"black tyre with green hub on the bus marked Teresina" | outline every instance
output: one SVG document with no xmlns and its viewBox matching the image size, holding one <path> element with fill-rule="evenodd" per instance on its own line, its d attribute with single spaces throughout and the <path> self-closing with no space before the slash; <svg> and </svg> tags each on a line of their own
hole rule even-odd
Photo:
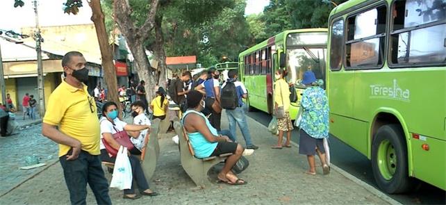
<svg viewBox="0 0 446 205">
<path fill-rule="evenodd" d="M 372 170 L 381 190 L 389 194 L 408 191 L 413 179 L 408 177 L 407 146 L 397 124 L 381 126 L 372 144 Z"/>
</svg>

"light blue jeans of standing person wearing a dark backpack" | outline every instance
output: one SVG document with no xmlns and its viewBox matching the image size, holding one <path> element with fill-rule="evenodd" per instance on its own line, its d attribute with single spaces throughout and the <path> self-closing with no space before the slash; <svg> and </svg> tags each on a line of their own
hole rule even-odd
<svg viewBox="0 0 446 205">
<path fill-rule="evenodd" d="M 245 115 L 245 106 L 238 107 L 233 110 L 226 109 L 226 115 L 228 115 L 229 131 L 233 136 L 236 136 L 236 123 L 242 131 L 243 138 L 245 138 L 245 144 L 247 147 L 252 145 L 251 133 L 249 133 L 248 122 Z"/>
</svg>

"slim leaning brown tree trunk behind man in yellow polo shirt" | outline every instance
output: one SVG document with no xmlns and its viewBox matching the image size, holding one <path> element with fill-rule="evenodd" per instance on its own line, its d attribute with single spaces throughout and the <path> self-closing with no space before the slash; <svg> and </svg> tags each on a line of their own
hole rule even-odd
<svg viewBox="0 0 446 205">
<path fill-rule="evenodd" d="M 117 94 L 116 69 L 113 63 L 113 54 L 110 44 L 108 44 L 108 35 L 106 32 L 106 24 L 104 23 L 104 13 L 101 9 L 100 0 L 92 0 L 89 2 L 92 9 L 91 20 L 96 28 L 97 40 L 99 41 L 99 49 L 101 49 L 102 69 L 104 70 L 104 80 L 108 88 L 107 100 L 114 101 L 119 104 Z M 120 106 L 118 106 L 120 108 Z M 121 113 L 121 112 L 119 112 Z"/>
</svg>

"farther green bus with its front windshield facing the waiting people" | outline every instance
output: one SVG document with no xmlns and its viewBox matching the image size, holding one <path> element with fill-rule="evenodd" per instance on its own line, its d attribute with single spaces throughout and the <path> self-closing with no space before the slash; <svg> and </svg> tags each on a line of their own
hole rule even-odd
<svg viewBox="0 0 446 205">
<path fill-rule="evenodd" d="M 249 93 L 248 109 L 256 108 L 272 114 L 274 109 L 273 84 L 276 69 L 287 69 L 288 83 L 302 93 L 299 80 L 308 69 L 317 79 L 325 79 L 327 28 L 308 28 L 283 31 L 256 44 L 238 56 L 239 79 Z M 299 100 L 292 101 L 290 117 L 295 120 Z"/>
</svg>

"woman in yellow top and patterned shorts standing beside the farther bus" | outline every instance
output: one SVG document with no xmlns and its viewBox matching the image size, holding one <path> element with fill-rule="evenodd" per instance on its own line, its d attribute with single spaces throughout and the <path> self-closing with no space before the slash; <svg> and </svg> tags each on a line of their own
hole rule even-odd
<svg viewBox="0 0 446 205">
<path fill-rule="evenodd" d="M 291 147 L 290 138 L 291 131 L 293 128 L 290 113 L 288 109 L 290 108 L 290 89 L 288 88 L 288 83 L 285 81 L 285 77 L 288 72 L 284 69 L 277 69 L 274 72 L 274 115 L 277 118 L 277 130 L 279 131 L 279 138 L 277 140 L 277 145 L 272 146 L 272 149 L 282 149 L 284 147 Z M 283 133 L 286 133 L 285 145 L 282 145 Z"/>
</svg>

